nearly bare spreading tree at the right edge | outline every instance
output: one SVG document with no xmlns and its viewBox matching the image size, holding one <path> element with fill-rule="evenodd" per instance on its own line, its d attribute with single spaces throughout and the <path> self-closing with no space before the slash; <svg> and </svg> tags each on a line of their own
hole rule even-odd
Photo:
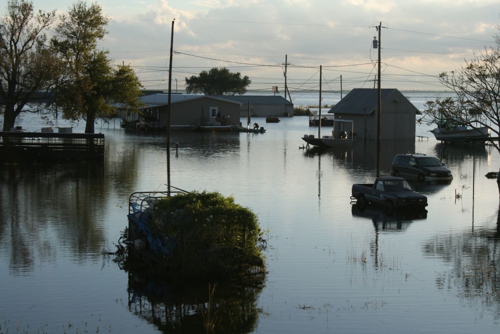
<svg viewBox="0 0 500 334">
<path fill-rule="evenodd" d="M 499 29 L 497 27 L 497 29 Z M 439 81 L 454 91 L 457 98 L 427 101 L 424 119 L 454 119 L 471 128 L 490 126 L 498 137 L 500 125 L 500 36 L 496 45 L 479 56 L 465 60 L 465 65 L 449 74 L 439 74 Z M 493 146 L 500 152 L 498 142 Z M 500 176 L 500 173 L 498 173 Z M 497 178 L 498 180 L 498 178 Z"/>
</svg>

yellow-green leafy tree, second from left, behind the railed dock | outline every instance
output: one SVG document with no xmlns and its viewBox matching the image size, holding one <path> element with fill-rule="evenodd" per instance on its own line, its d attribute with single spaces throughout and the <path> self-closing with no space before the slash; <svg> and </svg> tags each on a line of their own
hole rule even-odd
<svg viewBox="0 0 500 334">
<path fill-rule="evenodd" d="M 109 19 L 97 4 L 78 1 L 59 17 L 51 46 L 64 62 L 51 107 L 70 120 L 85 119 L 85 133 L 94 132 L 95 118 L 112 115 L 117 104 L 138 111 L 140 84 L 129 66 L 112 65 L 108 51 L 97 50 Z"/>
</svg>

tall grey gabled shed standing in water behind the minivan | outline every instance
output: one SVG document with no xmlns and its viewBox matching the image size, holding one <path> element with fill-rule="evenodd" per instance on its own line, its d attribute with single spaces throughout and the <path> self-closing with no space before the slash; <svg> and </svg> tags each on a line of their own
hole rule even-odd
<svg viewBox="0 0 500 334">
<path fill-rule="evenodd" d="M 356 88 L 328 113 L 354 122 L 356 139 L 376 139 L 377 89 Z M 380 139 L 415 140 L 415 115 L 420 111 L 397 89 L 381 90 Z"/>
</svg>

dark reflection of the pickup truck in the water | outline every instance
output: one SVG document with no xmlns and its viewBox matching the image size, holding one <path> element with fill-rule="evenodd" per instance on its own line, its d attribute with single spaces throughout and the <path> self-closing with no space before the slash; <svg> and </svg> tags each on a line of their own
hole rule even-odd
<svg viewBox="0 0 500 334">
<path fill-rule="evenodd" d="M 414 220 L 427 219 L 427 210 L 394 210 L 388 213 L 383 208 L 374 205 L 367 205 L 363 209 L 353 204 L 351 213 L 354 217 L 370 219 L 375 231 L 386 232 L 404 231 Z"/>
</svg>

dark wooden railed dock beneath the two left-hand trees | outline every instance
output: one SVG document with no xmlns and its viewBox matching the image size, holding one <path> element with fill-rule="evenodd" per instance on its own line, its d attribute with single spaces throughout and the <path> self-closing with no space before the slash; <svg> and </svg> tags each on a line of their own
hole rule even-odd
<svg viewBox="0 0 500 334">
<path fill-rule="evenodd" d="M 104 159 L 101 133 L 0 132 L 0 160 Z"/>
</svg>

